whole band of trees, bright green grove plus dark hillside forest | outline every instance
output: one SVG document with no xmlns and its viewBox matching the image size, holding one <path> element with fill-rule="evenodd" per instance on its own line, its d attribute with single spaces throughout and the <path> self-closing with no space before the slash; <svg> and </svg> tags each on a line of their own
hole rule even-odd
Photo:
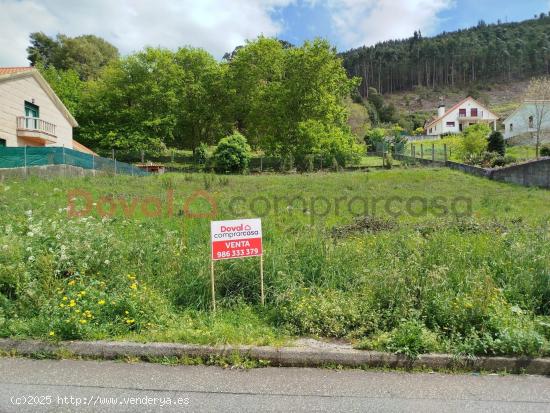
<svg viewBox="0 0 550 413">
<path fill-rule="evenodd" d="M 44 33 L 30 35 L 27 52 L 78 120 L 76 139 L 95 150 L 195 151 L 239 132 L 269 156 L 345 165 L 369 130 L 422 133 L 433 111 L 411 108 L 403 93 L 483 101 L 490 85 L 548 74 L 550 16 L 431 38 L 417 31 L 341 54 L 321 39 L 259 37 L 221 61 L 191 47 L 120 56 L 93 35 Z"/>
</svg>

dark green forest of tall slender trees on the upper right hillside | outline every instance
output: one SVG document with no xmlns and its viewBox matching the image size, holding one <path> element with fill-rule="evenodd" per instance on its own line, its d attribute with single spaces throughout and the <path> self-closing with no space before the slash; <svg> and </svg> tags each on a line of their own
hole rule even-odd
<svg viewBox="0 0 550 413">
<path fill-rule="evenodd" d="M 360 93 L 464 87 L 550 73 L 550 13 L 519 23 L 486 24 L 424 38 L 391 40 L 342 54 L 348 73 L 363 79 Z"/>
</svg>

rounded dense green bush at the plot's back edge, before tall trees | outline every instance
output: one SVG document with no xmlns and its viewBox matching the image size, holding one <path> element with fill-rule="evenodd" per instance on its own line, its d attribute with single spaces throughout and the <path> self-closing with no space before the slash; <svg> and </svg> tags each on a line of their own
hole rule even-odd
<svg viewBox="0 0 550 413">
<path fill-rule="evenodd" d="M 243 173 L 248 169 L 251 149 L 246 138 L 238 132 L 223 138 L 214 151 L 214 165 L 220 173 Z"/>
</svg>

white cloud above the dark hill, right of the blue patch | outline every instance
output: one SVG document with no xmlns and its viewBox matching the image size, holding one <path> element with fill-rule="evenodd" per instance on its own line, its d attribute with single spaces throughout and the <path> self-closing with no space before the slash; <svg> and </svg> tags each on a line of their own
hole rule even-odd
<svg viewBox="0 0 550 413">
<path fill-rule="evenodd" d="M 432 33 L 437 14 L 453 0 L 329 0 L 334 30 L 344 47 L 359 47 L 410 37 L 415 30 Z"/>
</svg>

